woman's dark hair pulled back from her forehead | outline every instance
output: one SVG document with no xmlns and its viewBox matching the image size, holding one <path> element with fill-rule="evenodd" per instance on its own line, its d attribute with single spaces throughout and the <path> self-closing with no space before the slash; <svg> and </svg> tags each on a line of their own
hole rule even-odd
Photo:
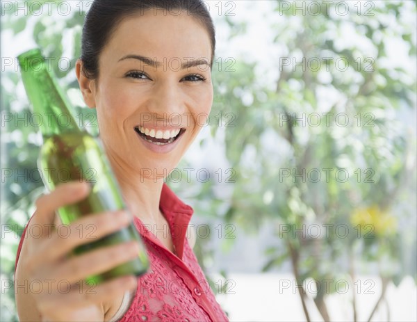
<svg viewBox="0 0 417 322">
<path fill-rule="evenodd" d="M 122 19 L 145 10 L 162 9 L 164 15 L 186 11 L 208 31 L 211 41 L 211 65 L 215 51 L 215 29 L 206 5 L 201 0 L 95 0 L 85 16 L 81 38 L 83 73 L 89 79 L 99 77 L 99 55 Z"/>
</svg>

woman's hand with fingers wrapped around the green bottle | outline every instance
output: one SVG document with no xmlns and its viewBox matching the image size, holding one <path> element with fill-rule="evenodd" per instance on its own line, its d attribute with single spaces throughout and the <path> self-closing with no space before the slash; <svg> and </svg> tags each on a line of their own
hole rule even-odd
<svg viewBox="0 0 417 322">
<path fill-rule="evenodd" d="M 83 282 L 89 275 L 103 273 L 137 257 L 136 242 L 68 257 L 76 246 L 92 241 L 91 225 L 96 228 L 95 238 L 100 239 L 129 225 L 129 214 L 113 211 L 85 216 L 67 227 L 65 234 L 70 233 L 65 238 L 51 229 L 56 209 L 83 200 L 88 191 L 88 184 L 70 182 L 36 200 L 36 211 L 26 230 L 15 275 L 20 321 L 104 321 L 103 303 L 136 288 L 133 275 L 99 285 Z"/>
</svg>

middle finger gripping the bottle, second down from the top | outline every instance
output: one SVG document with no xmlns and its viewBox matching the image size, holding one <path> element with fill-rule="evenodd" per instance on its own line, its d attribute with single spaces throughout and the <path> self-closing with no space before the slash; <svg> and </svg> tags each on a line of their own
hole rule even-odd
<svg viewBox="0 0 417 322">
<path fill-rule="evenodd" d="M 42 256 L 34 256 L 30 265 L 38 266 L 44 262 L 51 263 L 65 257 L 79 245 L 98 241 L 104 236 L 117 232 L 131 223 L 131 215 L 126 211 L 107 211 L 102 214 L 87 215 L 65 227 L 65 232 L 58 230 L 42 245 L 37 252 Z M 69 234 L 67 234 L 69 232 Z"/>
</svg>

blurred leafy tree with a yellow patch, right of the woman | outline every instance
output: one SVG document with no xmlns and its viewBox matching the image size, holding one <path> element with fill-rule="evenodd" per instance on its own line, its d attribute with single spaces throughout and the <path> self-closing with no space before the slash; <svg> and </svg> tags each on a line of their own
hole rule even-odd
<svg viewBox="0 0 417 322">
<path fill-rule="evenodd" d="M 379 1 L 358 15 L 350 3 L 335 15 L 334 3 L 313 16 L 284 2 L 271 26 L 285 53 L 270 65 L 275 90 L 256 86 L 256 66 L 244 62 L 214 75 L 220 109 L 237 115 L 224 140 L 237 172 L 225 219 L 254 231 L 275 225 L 282 243 L 266 250 L 264 270 L 290 261 L 298 285 L 316 280 L 313 302 L 330 321 L 323 281 L 334 292 L 347 277 L 354 289 L 357 274 L 376 266 L 384 298 L 390 281 L 416 279 L 416 138 L 399 119 L 416 109 L 416 6 Z M 409 49 L 409 65 L 395 62 L 394 44 Z M 300 298 L 309 320 L 305 289 Z M 377 309 L 358 317 L 355 305 L 353 294 L 355 321 Z"/>
</svg>

